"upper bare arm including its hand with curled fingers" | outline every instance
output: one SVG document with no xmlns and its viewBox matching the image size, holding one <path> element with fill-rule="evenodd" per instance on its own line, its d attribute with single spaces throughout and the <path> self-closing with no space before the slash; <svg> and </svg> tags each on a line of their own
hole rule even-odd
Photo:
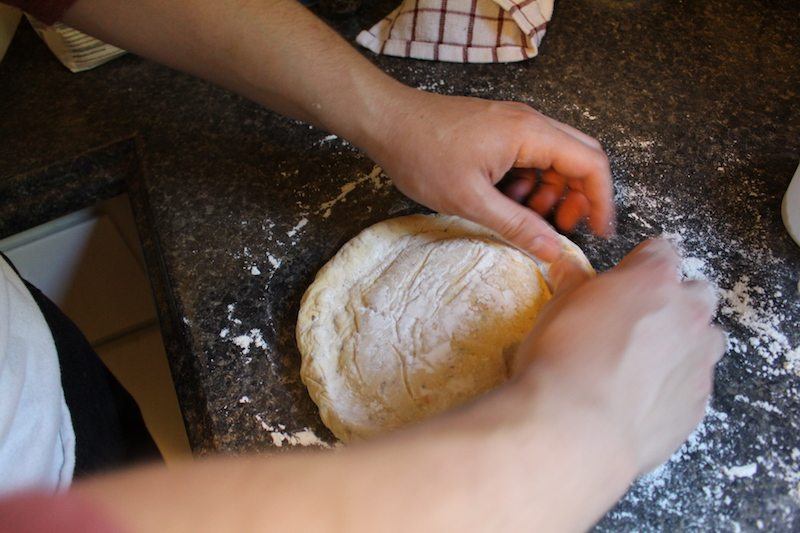
<svg viewBox="0 0 800 533">
<path fill-rule="evenodd" d="M 596 140 L 524 104 L 406 87 L 294 0 L 78 0 L 64 20 L 347 138 L 414 200 L 542 258 L 561 250 L 540 216 L 553 209 L 564 230 L 588 217 L 595 233 L 610 231 L 611 175 Z M 531 208 L 494 188 L 512 168 Z M 532 169 L 546 171 L 535 189 Z"/>
</svg>

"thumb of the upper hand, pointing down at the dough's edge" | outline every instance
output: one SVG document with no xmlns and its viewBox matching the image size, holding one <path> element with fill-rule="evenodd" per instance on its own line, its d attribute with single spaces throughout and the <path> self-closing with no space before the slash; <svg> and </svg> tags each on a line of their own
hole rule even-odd
<svg viewBox="0 0 800 533">
<path fill-rule="evenodd" d="M 531 209 L 481 181 L 485 188 L 468 197 L 461 216 L 496 231 L 517 248 L 542 261 L 553 262 L 561 256 L 561 242 L 550 224 Z"/>
</svg>

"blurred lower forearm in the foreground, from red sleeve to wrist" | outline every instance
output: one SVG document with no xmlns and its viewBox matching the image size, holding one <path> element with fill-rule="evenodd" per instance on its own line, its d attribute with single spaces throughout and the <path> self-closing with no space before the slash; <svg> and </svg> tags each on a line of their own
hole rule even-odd
<svg viewBox="0 0 800 533">
<path fill-rule="evenodd" d="M 630 482 L 563 428 L 503 420 L 512 395 L 338 453 L 212 459 L 76 489 L 133 531 L 578 531 Z"/>
</svg>

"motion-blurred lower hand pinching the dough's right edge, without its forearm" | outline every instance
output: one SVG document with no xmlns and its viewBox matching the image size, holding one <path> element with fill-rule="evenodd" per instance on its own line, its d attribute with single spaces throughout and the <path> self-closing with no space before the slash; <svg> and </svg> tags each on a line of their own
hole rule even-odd
<svg viewBox="0 0 800 533">
<path fill-rule="evenodd" d="M 709 323 L 714 292 L 681 282 L 678 266 L 672 246 L 653 240 L 590 281 L 559 267 L 556 294 L 514 364 L 532 405 L 573 421 L 577 438 L 614 439 L 639 474 L 669 458 L 703 418 L 726 345 Z M 600 431 L 587 436 L 587 426 Z"/>
</svg>

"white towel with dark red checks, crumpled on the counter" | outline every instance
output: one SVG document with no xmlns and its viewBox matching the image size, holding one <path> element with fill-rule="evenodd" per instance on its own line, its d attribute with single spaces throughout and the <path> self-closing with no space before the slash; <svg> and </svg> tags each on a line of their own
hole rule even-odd
<svg viewBox="0 0 800 533">
<path fill-rule="evenodd" d="M 403 0 L 356 41 L 376 54 L 458 63 L 535 56 L 554 0 Z"/>
</svg>

